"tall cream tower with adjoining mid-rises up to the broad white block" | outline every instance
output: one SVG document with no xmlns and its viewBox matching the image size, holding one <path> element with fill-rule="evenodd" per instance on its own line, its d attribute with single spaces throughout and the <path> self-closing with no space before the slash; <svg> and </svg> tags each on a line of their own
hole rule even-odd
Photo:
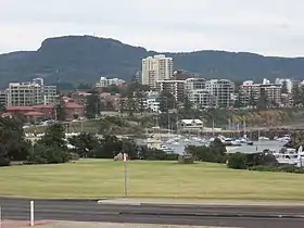
<svg viewBox="0 0 304 228">
<path fill-rule="evenodd" d="M 204 79 L 199 75 L 174 71 L 172 58 L 163 54 L 142 60 L 141 84 L 170 92 L 177 101 L 186 97 L 197 107 L 230 107 L 235 103 L 235 84 L 228 79 Z"/>
</svg>

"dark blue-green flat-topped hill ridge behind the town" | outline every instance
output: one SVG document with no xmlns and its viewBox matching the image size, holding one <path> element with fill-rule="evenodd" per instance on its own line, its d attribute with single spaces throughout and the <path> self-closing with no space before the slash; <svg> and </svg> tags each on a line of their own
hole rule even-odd
<svg viewBox="0 0 304 228">
<path fill-rule="evenodd" d="M 0 55 L 0 86 L 8 81 L 43 77 L 49 83 L 94 83 L 101 75 L 130 79 L 141 67 L 141 59 L 156 52 L 113 39 L 90 36 L 50 38 L 37 51 Z M 165 53 L 175 68 L 200 73 L 206 78 L 233 80 L 264 77 L 303 78 L 303 58 L 271 58 L 253 53 L 198 51 Z"/>
</svg>

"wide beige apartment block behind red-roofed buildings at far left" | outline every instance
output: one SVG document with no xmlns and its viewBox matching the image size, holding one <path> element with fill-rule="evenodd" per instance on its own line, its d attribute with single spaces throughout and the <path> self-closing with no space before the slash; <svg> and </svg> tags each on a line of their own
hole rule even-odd
<svg viewBox="0 0 304 228">
<path fill-rule="evenodd" d="M 55 101 L 56 86 L 45 86 L 43 80 L 35 79 L 30 83 L 11 83 L 7 89 L 8 106 L 54 104 Z"/>
</svg>

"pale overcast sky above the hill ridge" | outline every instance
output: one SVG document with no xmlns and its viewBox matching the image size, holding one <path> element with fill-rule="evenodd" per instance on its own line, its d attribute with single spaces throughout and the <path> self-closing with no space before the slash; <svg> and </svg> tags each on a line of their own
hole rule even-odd
<svg viewBox="0 0 304 228">
<path fill-rule="evenodd" d="M 93 35 L 148 50 L 304 56 L 303 0 L 0 0 L 0 53 Z"/>
</svg>

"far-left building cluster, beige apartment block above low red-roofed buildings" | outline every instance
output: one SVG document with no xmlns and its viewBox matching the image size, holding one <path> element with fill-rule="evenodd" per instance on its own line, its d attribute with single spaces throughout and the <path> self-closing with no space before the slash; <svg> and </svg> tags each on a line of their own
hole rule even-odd
<svg viewBox="0 0 304 228">
<path fill-rule="evenodd" d="M 56 119 L 55 105 L 59 102 L 56 86 L 47 86 L 42 78 L 27 83 L 10 83 L 0 91 L 0 103 L 4 107 L 2 116 L 22 113 L 30 122 L 38 119 Z M 85 106 L 64 97 L 66 118 L 84 116 Z"/>
</svg>

